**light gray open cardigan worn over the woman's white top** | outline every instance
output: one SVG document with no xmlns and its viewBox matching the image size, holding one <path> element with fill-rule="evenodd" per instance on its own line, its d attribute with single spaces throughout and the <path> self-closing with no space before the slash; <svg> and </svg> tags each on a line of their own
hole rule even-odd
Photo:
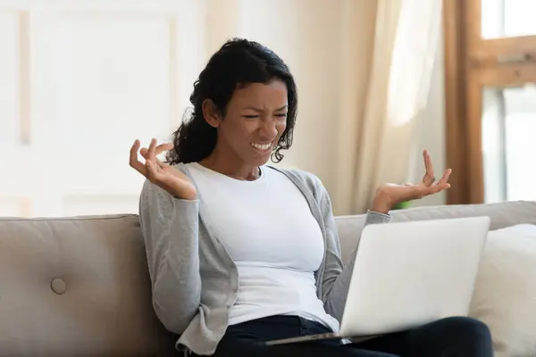
<svg viewBox="0 0 536 357">
<path fill-rule="evenodd" d="M 175 168 L 191 179 L 183 164 Z M 318 221 L 325 253 L 319 270 L 314 272 L 317 295 L 325 310 L 340 321 L 356 252 L 344 267 L 330 197 L 320 179 L 301 170 L 272 169 L 294 182 Z M 213 354 L 228 326 L 239 274 L 218 240 L 203 197 L 181 200 L 147 180 L 140 195 L 139 218 L 156 316 L 165 328 L 180 335 L 178 349 L 186 346 L 200 355 Z M 365 225 L 389 219 L 389 215 L 368 212 Z"/>
</svg>

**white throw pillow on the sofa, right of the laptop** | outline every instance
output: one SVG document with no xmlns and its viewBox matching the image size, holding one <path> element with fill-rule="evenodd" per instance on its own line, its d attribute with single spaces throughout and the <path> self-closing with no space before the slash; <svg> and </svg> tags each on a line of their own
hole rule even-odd
<svg viewBox="0 0 536 357">
<path fill-rule="evenodd" d="M 536 226 L 488 234 L 470 316 L 489 326 L 497 357 L 536 356 Z"/>
</svg>

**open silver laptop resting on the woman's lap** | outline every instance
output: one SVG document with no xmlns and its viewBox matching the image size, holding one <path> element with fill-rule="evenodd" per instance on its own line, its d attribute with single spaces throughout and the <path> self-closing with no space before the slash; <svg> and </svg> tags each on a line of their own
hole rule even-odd
<svg viewBox="0 0 536 357">
<path fill-rule="evenodd" d="M 339 332 L 266 345 L 370 338 L 467 316 L 489 228 L 489 217 L 366 226 Z"/>
</svg>

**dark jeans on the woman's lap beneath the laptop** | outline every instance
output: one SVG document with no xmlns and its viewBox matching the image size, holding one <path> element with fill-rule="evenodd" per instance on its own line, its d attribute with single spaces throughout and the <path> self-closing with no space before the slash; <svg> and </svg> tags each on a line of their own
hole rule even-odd
<svg viewBox="0 0 536 357">
<path fill-rule="evenodd" d="M 491 357 L 490 330 L 469 318 L 448 318 L 420 328 L 356 344 L 339 340 L 266 346 L 264 341 L 330 332 L 322 324 L 295 316 L 273 316 L 230 326 L 214 356 Z"/>
</svg>

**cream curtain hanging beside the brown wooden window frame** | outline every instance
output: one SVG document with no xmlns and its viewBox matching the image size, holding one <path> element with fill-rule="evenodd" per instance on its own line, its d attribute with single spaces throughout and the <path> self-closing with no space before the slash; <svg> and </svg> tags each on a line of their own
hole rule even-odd
<svg viewBox="0 0 536 357">
<path fill-rule="evenodd" d="M 426 120 L 422 113 L 440 45 L 441 1 L 348 3 L 347 27 L 358 20 L 373 41 L 362 39 L 348 49 L 344 64 L 347 95 L 334 193 L 335 211 L 344 214 L 364 212 L 381 182 L 413 179 L 415 141 Z"/>
</svg>

